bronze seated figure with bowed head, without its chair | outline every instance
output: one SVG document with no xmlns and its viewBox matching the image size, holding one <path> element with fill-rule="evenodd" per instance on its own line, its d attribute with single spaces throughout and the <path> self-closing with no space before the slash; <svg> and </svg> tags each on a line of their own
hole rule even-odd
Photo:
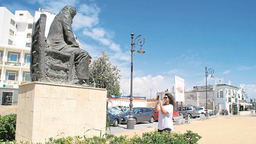
<svg viewBox="0 0 256 144">
<path fill-rule="evenodd" d="M 72 80 L 72 83 L 89 86 L 89 54 L 79 48 L 71 27 L 76 14 L 76 9 L 72 5 L 67 5 L 55 16 L 50 26 L 47 44 L 60 52 L 74 54 L 74 66 L 78 79 Z"/>
</svg>

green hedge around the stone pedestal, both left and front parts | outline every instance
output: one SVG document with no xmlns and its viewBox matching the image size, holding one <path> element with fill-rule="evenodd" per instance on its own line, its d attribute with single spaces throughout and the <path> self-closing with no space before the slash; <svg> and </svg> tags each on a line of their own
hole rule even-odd
<svg viewBox="0 0 256 144">
<path fill-rule="evenodd" d="M 0 144 L 30 144 L 29 142 L 16 142 L 16 114 L 0 116 Z M 60 139 L 49 138 L 45 144 L 197 144 L 201 139 L 197 133 L 187 131 L 184 134 L 175 132 L 163 132 L 160 134 L 157 131 L 146 132 L 139 137 L 135 135 L 132 138 L 127 136 L 117 137 L 115 135 L 104 135 L 100 137 L 63 137 Z M 13 142 L 10 142 L 13 141 Z"/>
</svg>

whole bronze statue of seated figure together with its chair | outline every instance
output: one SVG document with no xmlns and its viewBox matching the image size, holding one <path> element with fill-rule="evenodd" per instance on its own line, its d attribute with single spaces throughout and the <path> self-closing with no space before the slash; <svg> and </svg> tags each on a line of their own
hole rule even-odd
<svg viewBox="0 0 256 144">
<path fill-rule="evenodd" d="M 72 5 L 65 6 L 50 26 L 44 39 L 46 15 L 33 26 L 31 79 L 53 83 L 89 86 L 89 53 L 81 48 L 72 31 L 77 14 Z"/>
</svg>

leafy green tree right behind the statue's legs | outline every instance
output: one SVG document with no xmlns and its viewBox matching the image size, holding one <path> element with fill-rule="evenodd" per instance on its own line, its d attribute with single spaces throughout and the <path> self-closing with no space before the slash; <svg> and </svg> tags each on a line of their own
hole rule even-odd
<svg viewBox="0 0 256 144">
<path fill-rule="evenodd" d="M 89 75 L 94 78 L 95 85 L 98 88 L 108 90 L 107 97 L 110 95 L 120 95 L 120 70 L 117 66 L 111 64 L 110 58 L 105 50 L 99 57 L 90 64 Z M 93 85 L 93 79 L 90 77 L 89 83 Z"/>
</svg>

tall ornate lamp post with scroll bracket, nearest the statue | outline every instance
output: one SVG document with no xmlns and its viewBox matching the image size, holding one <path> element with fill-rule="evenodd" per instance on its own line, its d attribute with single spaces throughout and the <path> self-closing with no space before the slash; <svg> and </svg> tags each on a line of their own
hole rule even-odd
<svg viewBox="0 0 256 144">
<path fill-rule="evenodd" d="M 134 42 L 133 42 L 133 38 L 134 38 L 134 33 L 132 31 L 131 33 L 131 39 L 132 39 L 132 42 L 131 42 L 131 52 L 132 52 L 132 56 L 134 54 L 134 51 L 135 51 L 135 46 L 136 45 L 139 45 L 141 48 L 137 51 L 139 53 L 145 53 L 145 51 L 142 49 L 142 45 L 144 45 L 145 43 L 145 38 L 143 35 L 138 35 Z M 131 94 L 130 94 L 130 112 L 129 112 L 129 118 L 127 120 L 127 129 L 129 130 L 133 130 L 134 129 L 134 119 L 133 119 L 133 116 L 132 116 L 132 99 L 133 99 L 133 96 L 132 96 L 132 72 L 133 72 L 133 57 L 131 59 Z"/>
</svg>

